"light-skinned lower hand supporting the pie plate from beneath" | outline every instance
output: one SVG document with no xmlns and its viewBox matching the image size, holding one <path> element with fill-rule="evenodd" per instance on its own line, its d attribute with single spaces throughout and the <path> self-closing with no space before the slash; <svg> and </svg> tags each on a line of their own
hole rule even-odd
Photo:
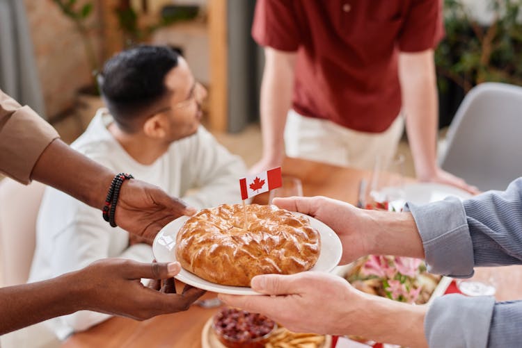
<svg viewBox="0 0 522 348">
<path fill-rule="evenodd" d="M 219 299 L 228 306 L 267 315 L 290 331 L 345 335 L 356 322 L 350 318 L 364 311 L 358 291 L 331 274 L 265 274 L 255 276 L 251 287 L 276 296 L 219 295 Z"/>
</svg>

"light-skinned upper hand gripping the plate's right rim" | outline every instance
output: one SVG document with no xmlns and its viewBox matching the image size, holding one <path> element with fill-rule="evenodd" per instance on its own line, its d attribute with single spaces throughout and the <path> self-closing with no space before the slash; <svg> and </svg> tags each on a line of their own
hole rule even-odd
<svg viewBox="0 0 522 348">
<path fill-rule="evenodd" d="M 365 233 L 370 220 L 365 210 L 327 197 L 274 198 L 272 204 L 310 215 L 330 226 L 342 242 L 342 265 L 370 251 L 370 234 Z"/>
</svg>

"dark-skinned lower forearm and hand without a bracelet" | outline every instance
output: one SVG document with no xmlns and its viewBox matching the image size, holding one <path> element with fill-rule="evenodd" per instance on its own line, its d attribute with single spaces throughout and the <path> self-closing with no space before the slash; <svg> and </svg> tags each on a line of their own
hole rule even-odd
<svg viewBox="0 0 522 348">
<path fill-rule="evenodd" d="M 77 310 L 136 320 L 187 310 L 205 290 L 186 286 L 180 295 L 171 293 L 172 277 L 180 270 L 179 263 L 106 258 L 47 281 L 0 288 L 0 335 Z M 142 278 L 166 279 L 164 289 L 147 288 Z M 27 314 L 27 308 L 31 313 Z"/>
</svg>

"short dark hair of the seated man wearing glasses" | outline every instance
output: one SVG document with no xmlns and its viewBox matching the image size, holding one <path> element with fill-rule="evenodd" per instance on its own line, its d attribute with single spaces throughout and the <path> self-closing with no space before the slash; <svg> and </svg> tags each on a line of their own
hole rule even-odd
<svg viewBox="0 0 522 348">
<path fill-rule="evenodd" d="M 166 46 L 141 45 L 106 61 L 98 78 L 107 108 L 123 131 L 136 131 L 136 119 L 152 113 L 168 90 L 164 79 L 179 54 Z"/>
</svg>

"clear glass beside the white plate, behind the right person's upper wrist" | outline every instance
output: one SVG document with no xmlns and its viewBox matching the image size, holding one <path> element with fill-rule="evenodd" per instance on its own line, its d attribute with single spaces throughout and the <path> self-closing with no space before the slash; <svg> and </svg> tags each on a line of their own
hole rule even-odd
<svg viewBox="0 0 522 348">
<path fill-rule="evenodd" d="M 404 155 L 387 162 L 377 156 L 366 201 L 373 208 L 401 211 L 406 203 L 404 192 Z"/>
</svg>

